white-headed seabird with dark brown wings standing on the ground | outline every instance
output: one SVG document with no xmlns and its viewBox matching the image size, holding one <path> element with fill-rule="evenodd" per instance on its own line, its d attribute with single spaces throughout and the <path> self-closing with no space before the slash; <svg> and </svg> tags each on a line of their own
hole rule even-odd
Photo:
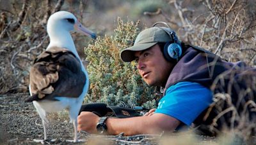
<svg viewBox="0 0 256 145">
<path fill-rule="evenodd" d="M 47 20 L 50 42 L 36 57 L 29 73 L 29 93 L 26 102 L 33 102 L 44 126 L 47 141 L 47 113 L 68 109 L 77 142 L 77 116 L 88 92 L 88 72 L 83 66 L 70 32 L 77 31 L 96 39 L 96 34 L 84 27 L 68 11 L 53 13 Z"/>
</svg>

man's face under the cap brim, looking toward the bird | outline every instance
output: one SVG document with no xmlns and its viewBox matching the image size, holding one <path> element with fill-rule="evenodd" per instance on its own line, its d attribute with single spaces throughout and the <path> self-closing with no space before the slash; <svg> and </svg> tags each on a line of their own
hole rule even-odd
<svg viewBox="0 0 256 145">
<path fill-rule="evenodd" d="M 134 53 L 137 69 L 143 80 L 150 86 L 165 86 L 173 64 L 164 59 L 159 45 Z"/>
</svg>

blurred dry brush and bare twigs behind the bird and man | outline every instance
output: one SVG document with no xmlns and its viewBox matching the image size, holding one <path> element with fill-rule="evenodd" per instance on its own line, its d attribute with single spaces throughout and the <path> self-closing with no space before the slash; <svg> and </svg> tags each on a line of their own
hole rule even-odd
<svg viewBox="0 0 256 145">
<path fill-rule="evenodd" d="M 182 41 L 228 61 L 256 64 L 253 0 L 0 0 L 0 94 L 28 91 L 29 68 L 49 43 L 47 19 L 60 10 L 74 13 L 100 37 L 115 35 L 118 18 L 138 23 L 140 31 L 164 21 Z M 95 41 L 77 33 L 72 36 L 88 65 L 84 48 Z"/>
</svg>

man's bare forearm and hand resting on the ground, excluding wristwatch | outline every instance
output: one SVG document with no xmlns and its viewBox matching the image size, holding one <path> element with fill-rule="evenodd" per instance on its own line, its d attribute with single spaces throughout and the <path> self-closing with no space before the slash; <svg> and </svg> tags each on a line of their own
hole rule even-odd
<svg viewBox="0 0 256 145">
<path fill-rule="evenodd" d="M 96 133 L 99 116 L 91 112 L 82 112 L 77 117 L 78 130 Z M 154 113 L 152 116 L 138 116 L 132 118 L 108 118 L 106 125 L 108 134 L 116 135 L 124 132 L 125 135 L 158 134 L 162 131 L 173 132 L 180 121 L 166 114 Z"/>
</svg>

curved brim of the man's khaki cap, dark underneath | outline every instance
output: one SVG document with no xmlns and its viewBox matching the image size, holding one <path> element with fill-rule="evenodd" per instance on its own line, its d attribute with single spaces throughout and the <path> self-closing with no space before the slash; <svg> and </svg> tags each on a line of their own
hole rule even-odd
<svg viewBox="0 0 256 145">
<path fill-rule="evenodd" d="M 124 62 L 131 62 L 132 60 L 135 59 L 134 52 L 142 51 L 142 50 L 147 50 L 148 48 L 156 45 L 157 42 L 154 43 L 143 43 L 143 44 L 136 44 L 134 46 L 131 46 L 129 48 L 126 48 L 122 50 L 121 52 L 121 59 Z"/>
</svg>

